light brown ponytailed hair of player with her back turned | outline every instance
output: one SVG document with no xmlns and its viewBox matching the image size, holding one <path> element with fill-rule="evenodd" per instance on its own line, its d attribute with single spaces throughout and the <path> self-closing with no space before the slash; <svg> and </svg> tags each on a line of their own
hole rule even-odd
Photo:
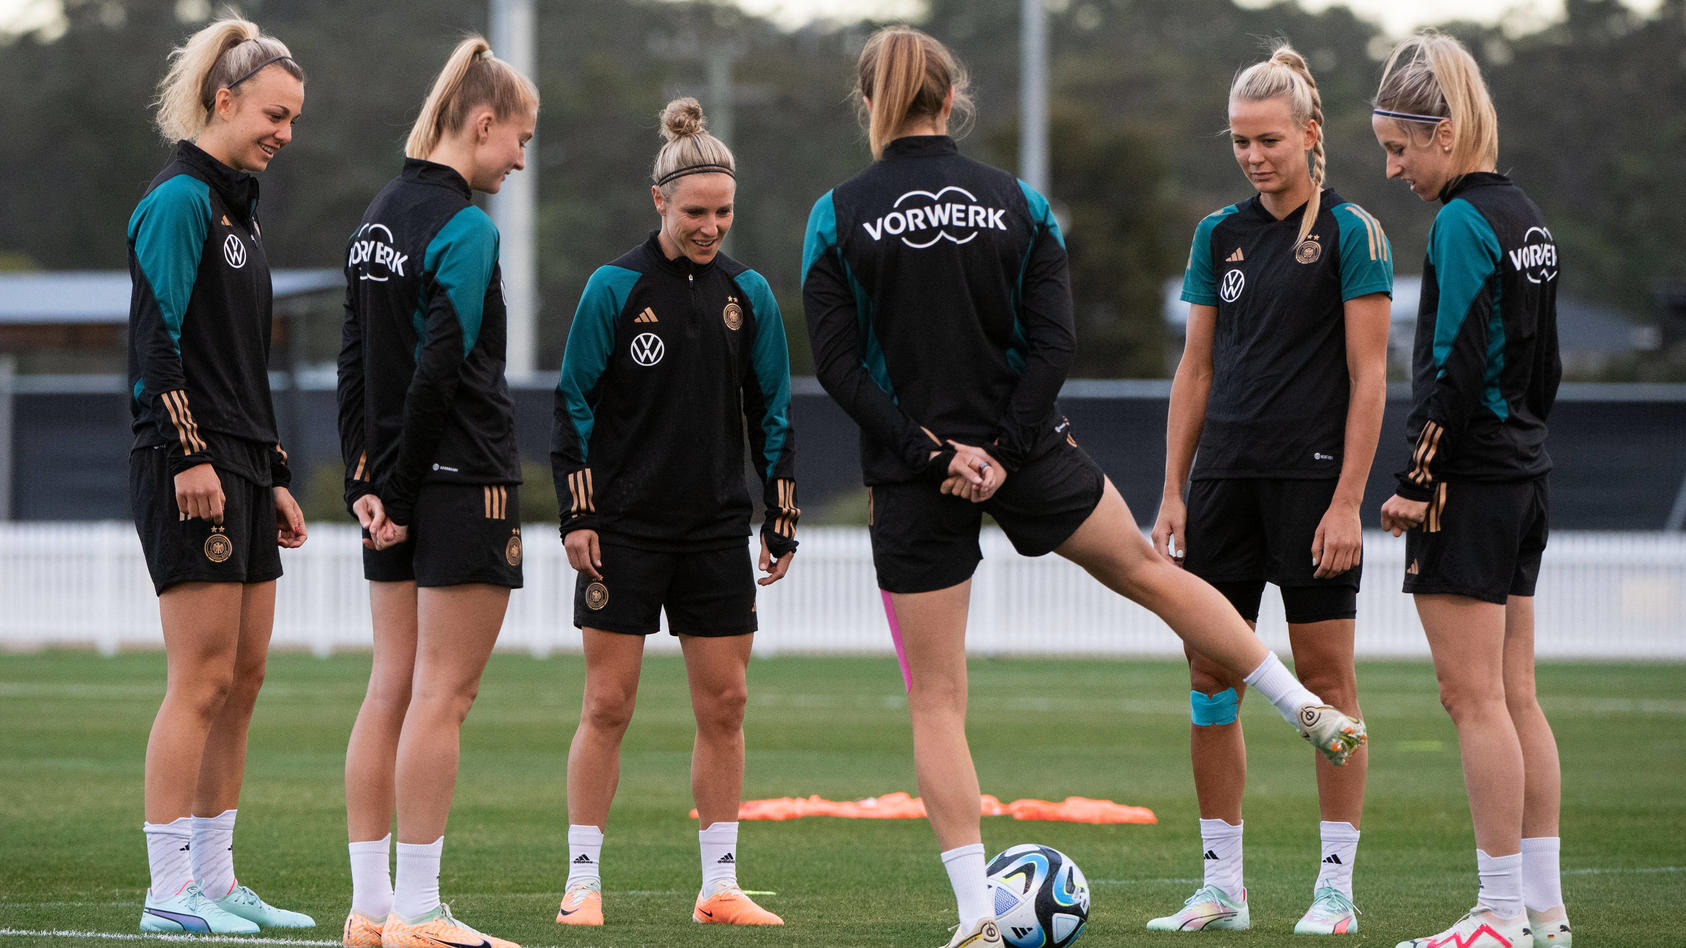
<svg viewBox="0 0 1686 948">
<path fill-rule="evenodd" d="M 883 147 L 909 120 L 941 115 L 949 89 L 954 91 L 951 115 L 956 137 L 971 127 L 971 81 L 964 66 L 948 47 L 914 27 L 883 27 L 872 34 L 855 73 L 856 106 L 873 159 L 883 157 Z M 870 108 L 867 100 L 872 100 Z"/>
</svg>

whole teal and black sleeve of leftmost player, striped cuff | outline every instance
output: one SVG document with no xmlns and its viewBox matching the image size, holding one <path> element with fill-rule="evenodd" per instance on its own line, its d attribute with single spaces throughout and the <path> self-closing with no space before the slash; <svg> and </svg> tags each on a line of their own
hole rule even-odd
<svg viewBox="0 0 1686 948">
<path fill-rule="evenodd" d="M 157 425 L 172 474 L 212 462 L 187 400 L 180 344 L 209 229 L 211 191 L 187 174 L 148 191 L 128 221 L 132 395 Z"/>
</svg>

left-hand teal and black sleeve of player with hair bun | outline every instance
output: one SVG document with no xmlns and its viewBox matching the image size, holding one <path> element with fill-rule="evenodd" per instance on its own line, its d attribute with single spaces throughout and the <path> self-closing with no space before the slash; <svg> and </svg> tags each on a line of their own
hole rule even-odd
<svg viewBox="0 0 1686 948">
<path fill-rule="evenodd" d="M 642 275 L 624 267 L 599 267 L 580 294 L 561 353 L 561 376 L 550 434 L 550 472 L 561 509 L 561 531 L 595 530 L 597 503 L 592 481 L 592 428 L 597 423 L 597 386 L 609 371 L 615 322 Z"/>
</svg>

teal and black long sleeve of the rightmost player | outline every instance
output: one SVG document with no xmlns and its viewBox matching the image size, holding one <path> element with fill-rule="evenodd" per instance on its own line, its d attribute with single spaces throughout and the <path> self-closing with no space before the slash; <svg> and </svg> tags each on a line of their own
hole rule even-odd
<svg viewBox="0 0 1686 948">
<path fill-rule="evenodd" d="M 1398 476 L 1399 496 L 1413 501 L 1433 496 L 1440 471 L 1457 454 L 1475 412 L 1484 403 L 1504 410 L 1492 364 L 1494 334 L 1502 344 L 1504 332 L 1495 324 L 1499 238 L 1492 224 L 1469 201 L 1448 202 L 1430 228 L 1428 261 L 1438 297 L 1435 312 L 1421 312 L 1418 320 L 1433 320 L 1435 380 L 1413 412 L 1411 457 Z"/>
</svg>

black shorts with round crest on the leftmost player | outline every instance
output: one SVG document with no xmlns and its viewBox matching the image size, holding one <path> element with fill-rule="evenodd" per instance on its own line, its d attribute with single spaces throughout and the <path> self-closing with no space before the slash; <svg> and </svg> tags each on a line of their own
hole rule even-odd
<svg viewBox="0 0 1686 948">
<path fill-rule="evenodd" d="M 128 455 L 128 501 L 160 594 L 182 582 L 270 582 L 282 575 L 275 489 L 231 471 L 223 482 L 223 523 L 187 520 L 175 504 L 169 449 L 142 447 Z"/>
</svg>

